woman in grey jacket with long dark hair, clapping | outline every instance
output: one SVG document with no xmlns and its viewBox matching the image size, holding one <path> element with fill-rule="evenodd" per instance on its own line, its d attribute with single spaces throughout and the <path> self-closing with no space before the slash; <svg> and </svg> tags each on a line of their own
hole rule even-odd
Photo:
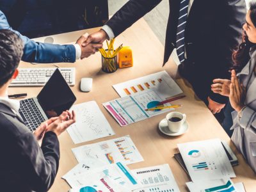
<svg viewBox="0 0 256 192">
<path fill-rule="evenodd" d="M 256 1 L 250 3 L 243 42 L 233 52 L 231 80 L 214 79 L 212 92 L 229 97 L 232 141 L 256 172 Z M 237 74 L 236 74 L 237 73 Z"/>
</svg>

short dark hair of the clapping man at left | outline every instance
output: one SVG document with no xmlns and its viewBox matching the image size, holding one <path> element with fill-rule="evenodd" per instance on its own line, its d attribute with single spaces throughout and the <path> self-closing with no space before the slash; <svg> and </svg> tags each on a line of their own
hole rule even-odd
<svg viewBox="0 0 256 192">
<path fill-rule="evenodd" d="M 0 87 L 7 83 L 19 66 L 23 42 L 14 32 L 0 30 Z"/>
</svg>

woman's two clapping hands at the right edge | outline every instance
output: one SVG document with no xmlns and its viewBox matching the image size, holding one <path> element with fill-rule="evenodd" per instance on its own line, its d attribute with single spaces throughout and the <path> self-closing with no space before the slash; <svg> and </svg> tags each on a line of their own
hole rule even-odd
<svg viewBox="0 0 256 192">
<path fill-rule="evenodd" d="M 231 71 L 231 80 L 214 79 L 211 90 L 214 93 L 229 97 L 230 104 L 237 112 L 244 108 L 246 90 L 243 84 L 239 83 L 235 70 Z"/>
</svg>

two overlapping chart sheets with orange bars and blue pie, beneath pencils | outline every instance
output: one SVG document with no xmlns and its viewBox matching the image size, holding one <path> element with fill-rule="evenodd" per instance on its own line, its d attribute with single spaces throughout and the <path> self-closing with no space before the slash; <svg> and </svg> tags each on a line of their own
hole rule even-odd
<svg viewBox="0 0 256 192">
<path fill-rule="evenodd" d="M 103 106 L 121 126 L 173 110 L 173 108 L 149 111 L 145 109 L 154 108 L 168 97 L 182 93 L 166 71 L 115 84 L 113 88 L 121 98 L 106 102 Z"/>
</svg>

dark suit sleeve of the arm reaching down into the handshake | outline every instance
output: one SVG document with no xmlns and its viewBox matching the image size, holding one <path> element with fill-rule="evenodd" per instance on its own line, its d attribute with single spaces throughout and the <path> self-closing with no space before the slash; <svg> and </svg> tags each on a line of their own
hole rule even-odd
<svg viewBox="0 0 256 192">
<path fill-rule="evenodd" d="M 118 36 L 160 2 L 161 0 L 130 0 L 106 24 Z"/>
</svg>

